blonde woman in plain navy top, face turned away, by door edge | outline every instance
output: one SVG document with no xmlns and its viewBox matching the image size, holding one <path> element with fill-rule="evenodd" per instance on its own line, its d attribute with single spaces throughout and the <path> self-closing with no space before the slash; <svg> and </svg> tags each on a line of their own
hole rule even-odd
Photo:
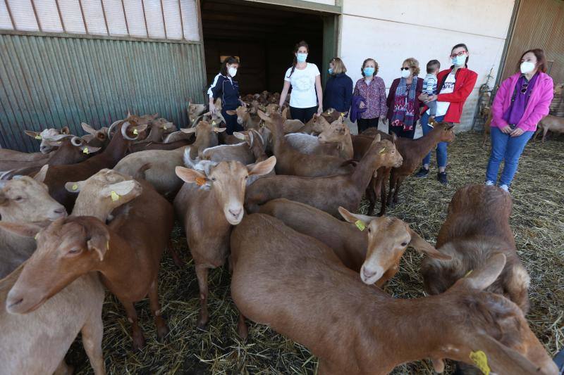
<svg viewBox="0 0 564 375">
<path fill-rule="evenodd" d="M 348 113 L 353 98 L 353 80 L 350 79 L 341 58 L 334 57 L 329 61 L 329 80 L 323 91 L 323 110 L 335 108 L 338 112 Z"/>
</svg>

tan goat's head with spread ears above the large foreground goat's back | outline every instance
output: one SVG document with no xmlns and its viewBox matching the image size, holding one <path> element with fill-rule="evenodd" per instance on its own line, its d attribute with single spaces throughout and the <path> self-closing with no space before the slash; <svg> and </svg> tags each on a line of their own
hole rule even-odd
<svg viewBox="0 0 564 375">
<path fill-rule="evenodd" d="M 411 246 L 429 258 L 450 260 L 422 239 L 407 223 L 397 217 L 372 217 L 357 215 L 340 207 L 345 220 L 355 223 L 358 230 L 368 232 L 368 246 L 364 249 L 365 260 L 360 267 L 360 279 L 364 284 L 383 286 L 400 269 L 400 259 L 407 246 Z M 357 271 L 357 269 L 355 269 Z"/>
</svg>

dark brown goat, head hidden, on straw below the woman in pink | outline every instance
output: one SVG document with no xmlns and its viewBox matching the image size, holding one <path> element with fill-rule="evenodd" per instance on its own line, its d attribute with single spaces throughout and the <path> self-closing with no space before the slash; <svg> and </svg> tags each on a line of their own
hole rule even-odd
<svg viewBox="0 0 564 375">
<path fill-rule="evenodd" d="M 452 260 L 424 259 L 422 274 L 427 292 L 446 291 L 472 269 L 482 267 L 498 253 L 507 263 L 488 291 L 505 295 L 526 314 L 529 310 L 529 274 L 515 250 L 509 226 L 511 197 L 496 186 L 468 185 L 453 196 L 436 248 Z"/>
</svg>

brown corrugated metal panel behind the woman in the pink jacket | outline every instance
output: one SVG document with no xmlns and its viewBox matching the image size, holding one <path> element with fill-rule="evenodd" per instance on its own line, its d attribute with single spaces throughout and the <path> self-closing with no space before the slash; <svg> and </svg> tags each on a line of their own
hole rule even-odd
<svg viewBox="0 0 564 375">
<path fill-rule="evenodd" d="M 541 48 L 553 61 L 550 75 L 564 82 L 564 1 L 521 0 L 502 80 L 515 73 L 517 61 L 528 49 Z"/>
</svg>

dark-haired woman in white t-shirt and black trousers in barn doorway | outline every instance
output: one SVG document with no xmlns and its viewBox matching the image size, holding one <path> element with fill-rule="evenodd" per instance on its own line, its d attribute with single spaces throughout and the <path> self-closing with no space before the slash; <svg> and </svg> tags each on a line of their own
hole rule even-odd
<svg viewBox="0 0 564 375">
<path fill-rule="evenodd" d="M 286 70 L 284 88 L 280 95 L 280 108 L 286 101 L 290 84 L 290 114 L 295 120 L 308 122 L 315 113 L 323 112 L 321 75 L 317 65 L 306 63 L 309 46 L 302 41 L 295 45 L 292 68 Z"/>
</svg>

